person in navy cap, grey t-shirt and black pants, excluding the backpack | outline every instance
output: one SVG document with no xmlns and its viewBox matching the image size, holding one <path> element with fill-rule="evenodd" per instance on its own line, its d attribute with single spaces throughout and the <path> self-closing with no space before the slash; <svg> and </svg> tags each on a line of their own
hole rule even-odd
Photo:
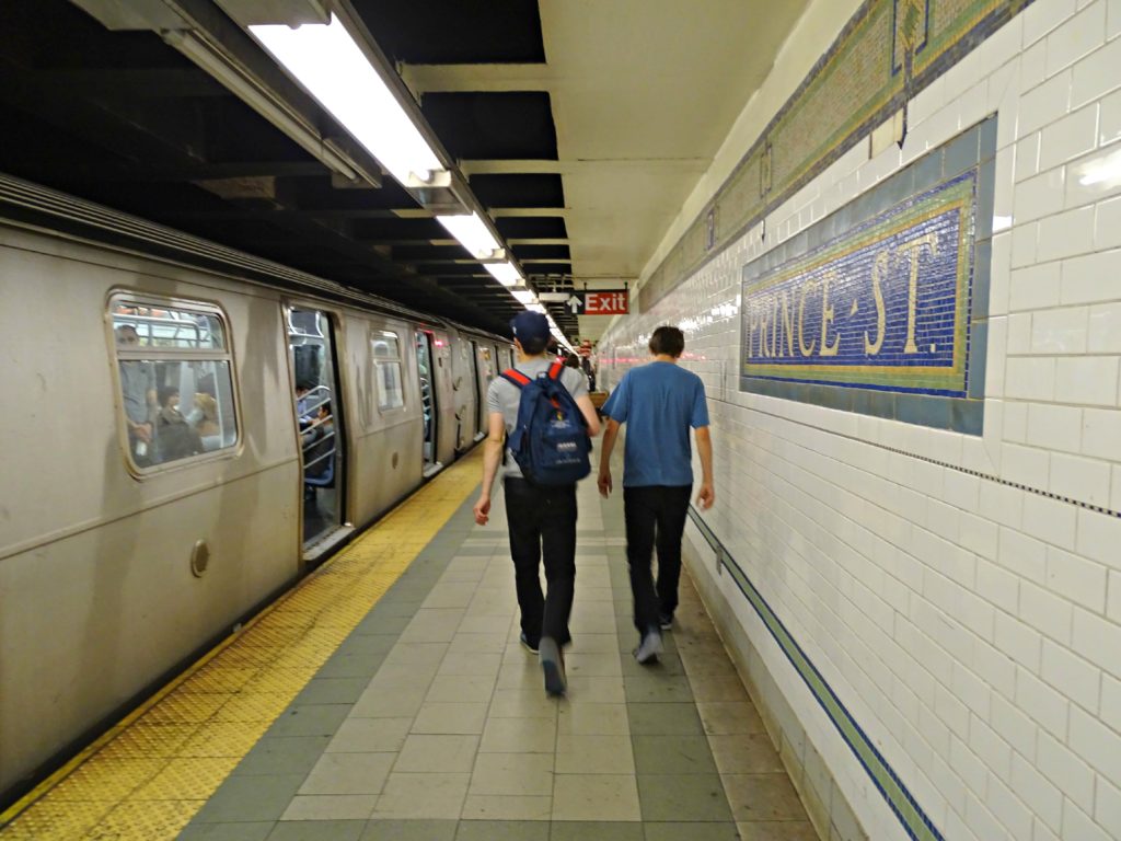
<svg viewBox="0 0 1121 841">
<path fill-rule="evenodd" d="M 517 371 L 529 379 L 549 370 L 546 353 L 549 323 L 540 313 L 525 311 L 510 322 L 518 351 Z M 573 368 L 564 368 L 560 383 L 576 401 L 587 422 L 587 434 L 600 432 L 600 419 L 587 394 L 587 380 Z M 506 437 L 518 419 L 521 390 L 512 382 L 495 378 L 487 392 L 488 435 L 483 446 L 483 484 L 475 502 L 475 523 L 485 526 L 490 516 L 491 486 L 502 461 Z M 521 644 L 538 653 L 545 673 L 545 690 L 564 694 L 566 684 L 563 646 L 571 641 L 568 614 L 572 612 L 576 579 L 576 484 L 545 487 L 529 482 L 507 452 L 502 472 L 506 517 L 510 530 L 518 607 L 521 610 Z M 541 594 L 539 567 L 545 562 L 548 584 Z"/>
</svg>

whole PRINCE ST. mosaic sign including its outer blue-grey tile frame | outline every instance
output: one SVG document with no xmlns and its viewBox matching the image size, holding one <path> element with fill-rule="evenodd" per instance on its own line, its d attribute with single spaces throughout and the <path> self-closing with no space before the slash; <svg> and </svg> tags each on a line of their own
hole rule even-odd
<svg viewBox="0 0 1121 841">
<path fill-rule="evenodd" d="M 995 119 L 743 270 L 741 390 L 980 434 Z"/>
</svg>

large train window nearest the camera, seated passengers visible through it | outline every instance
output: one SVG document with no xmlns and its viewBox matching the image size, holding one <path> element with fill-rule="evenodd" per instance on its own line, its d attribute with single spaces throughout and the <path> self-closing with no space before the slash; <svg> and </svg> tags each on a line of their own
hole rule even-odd
<svg viewBox="0 0 1121 841">
<path fill-rule="evenodd" d="M 130 463 L 141 472 L 238 444 L 226 320 L 212 304 L 110 299 Z"/>
</svg>

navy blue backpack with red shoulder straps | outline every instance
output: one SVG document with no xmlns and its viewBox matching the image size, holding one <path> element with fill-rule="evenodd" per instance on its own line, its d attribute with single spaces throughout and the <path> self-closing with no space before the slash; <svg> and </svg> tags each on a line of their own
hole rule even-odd
<svg viewBox="0 0 1121 841">
<path fill-rule="evenodd" d="M 562 370 L 555 362 L 536 379 L 513 368 L 502 372 L 502 379 L 521 389 L 510 451 L 521 474 L 535 484 L 573 484 L 592 472 L 587 420 L 560 382 Z"/>
</svg>

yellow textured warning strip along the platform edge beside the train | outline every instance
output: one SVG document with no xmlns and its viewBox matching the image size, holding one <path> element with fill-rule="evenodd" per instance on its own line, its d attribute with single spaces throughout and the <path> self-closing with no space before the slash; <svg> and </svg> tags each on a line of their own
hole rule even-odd
<svg viewBox="0 0 1121 841">
<path fill-rule="evenodd" d="M 120 817 L 126 819 L 123 824 L 120 820 L 109 821 L 113 838 L 174 839 L 474 491 L 480 460 L 481 452 L 476 450 L 441 472 L 12 804 L 0 814 L 0 835 L 4 841 L 90 837 L 87 833 L 102 826 L 104 819 L 120 812 Z M 271 654 L 252 654 L 257 648 Z M 222 665 L 223 656 L 231 663 Z M 244 657 L 244 662 L 238 660 L 239 657 Z M 210 671 L 215 673 L 217 681 L 213 683 L 220 687 L 223 671 L 228 681 L 245 680 L 241 685 L 228 687 L 230 692 L 211 692 L 205 680 Z M 245 677 L 244 672 L 253 674 Z M 195 682 L 200 684 L 198 691 L 192 693 Z M 201 718 L 200 709 L 204 711 Z M 182 737 L 182 730 L 191 732 L 179 739 L 172 755 L 160 754 L 160 745 L 156 743 L 152 747 L 157 756 L 149 759 L 143 740 L 139 739 L 140 746 L 132 748 L 135 754 L 122 747 L 123 756 L 114 756 L 118 739 L 123 742 L 135 732 L 133 727 L 143 728 L 146 717 L 154 718 L 149 730 L 161 728 L 155 730 L 160 738 Z M 247 717 L 252 720 L 245 720 Z M 200 742 L 201 737 L 210 736 L 204 733 L 207 727 L 217 738 L 202 738 Z M 220 749 L 231 743 L 231 748 Z M 136 767 L 129 767 L 130 761 Z M 184 771 L 188 777 L 186 784 L 182 778 L 174 779 L 174 771 L 183 764 L 194 765 Z M 194 776 L 192 770 L 196 771 Z M 191 796 L 130 797 L 146 788 L 159 793 L 166 784 L 157 778 L 164 775 L 172 778 L 176 792 L 193 785 Z M 87 779 L 80 780 L 83 776 Z M 80 814 L 83 810 L 84 815 Z"/>
</svg>

